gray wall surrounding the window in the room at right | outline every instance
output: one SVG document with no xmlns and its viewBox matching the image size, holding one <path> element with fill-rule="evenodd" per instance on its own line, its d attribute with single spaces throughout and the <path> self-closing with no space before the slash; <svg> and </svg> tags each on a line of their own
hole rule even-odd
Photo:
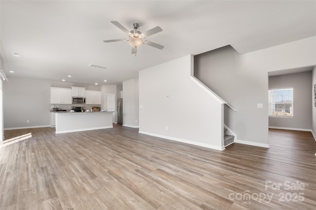
<svg viewBox="0 0 316 210">
<path fill-rule="evenodd" d="M 269 77 L 269 89 L 293 87 L 293 117 L 269 117 L 270 127 L 312 129 L 312 71 Z"/>
</svg>

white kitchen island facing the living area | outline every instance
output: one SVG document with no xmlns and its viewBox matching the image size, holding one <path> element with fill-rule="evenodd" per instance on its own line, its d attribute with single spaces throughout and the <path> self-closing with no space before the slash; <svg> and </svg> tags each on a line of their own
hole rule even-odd
<svg viewBox="0 0 316 210">
<path fill-rule="evenodd" d="M 113 128 L 113 112 L 62 112 L 55 115 L 56 134 Z"/>
</svg>

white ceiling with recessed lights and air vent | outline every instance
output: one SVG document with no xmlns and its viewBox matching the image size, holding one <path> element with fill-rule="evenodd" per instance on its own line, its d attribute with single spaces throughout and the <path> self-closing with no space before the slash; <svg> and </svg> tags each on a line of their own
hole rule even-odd
<svg viewBox="0 0 316 210">
<path fill-rule="evenodd" d="M 0 12 L 7 76 L 82 84 L 121 84 L 139 70 L 228 44 L 242 54 L 316 35 L 315 0 L 1 0 Z M 141 32 L 160 26 L 146 39 L 164 49 L 143 45 L 135 57 L 127 42 L 104 43 L 127 38 L 112 20 L 128 30 L 139 23 Z"/>
</svg>

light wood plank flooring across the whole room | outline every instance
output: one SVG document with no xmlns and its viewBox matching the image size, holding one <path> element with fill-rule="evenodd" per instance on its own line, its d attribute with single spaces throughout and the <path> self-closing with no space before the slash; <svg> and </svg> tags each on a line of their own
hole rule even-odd
<svg viewBox="0 0 316 210">
<path fill-rule="evenodd" d="M 224 151 L 119 125 L 4 135 L 0 210 L 316 208 L 316 141 L 310 132 L 271 129 L 270 148 L 234 143 Z"/>
</svg>

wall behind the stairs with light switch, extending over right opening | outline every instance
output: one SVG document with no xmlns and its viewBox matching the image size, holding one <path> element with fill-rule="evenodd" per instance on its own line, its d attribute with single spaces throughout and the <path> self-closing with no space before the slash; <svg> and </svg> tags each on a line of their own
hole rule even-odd
<svg viewBox="0 0 316 210">
<path fill-rule="evenodd" d="M 225 123 L 239 142 L 268 145 L 268 72 L 314 66 L 315 58 L 316 36 L 242 55 L 219 49 L 195 62 L 204 69 L 197 78 L 208 78 L 207 85 L 237 109 L 226 108 Z"/>
</svg>

